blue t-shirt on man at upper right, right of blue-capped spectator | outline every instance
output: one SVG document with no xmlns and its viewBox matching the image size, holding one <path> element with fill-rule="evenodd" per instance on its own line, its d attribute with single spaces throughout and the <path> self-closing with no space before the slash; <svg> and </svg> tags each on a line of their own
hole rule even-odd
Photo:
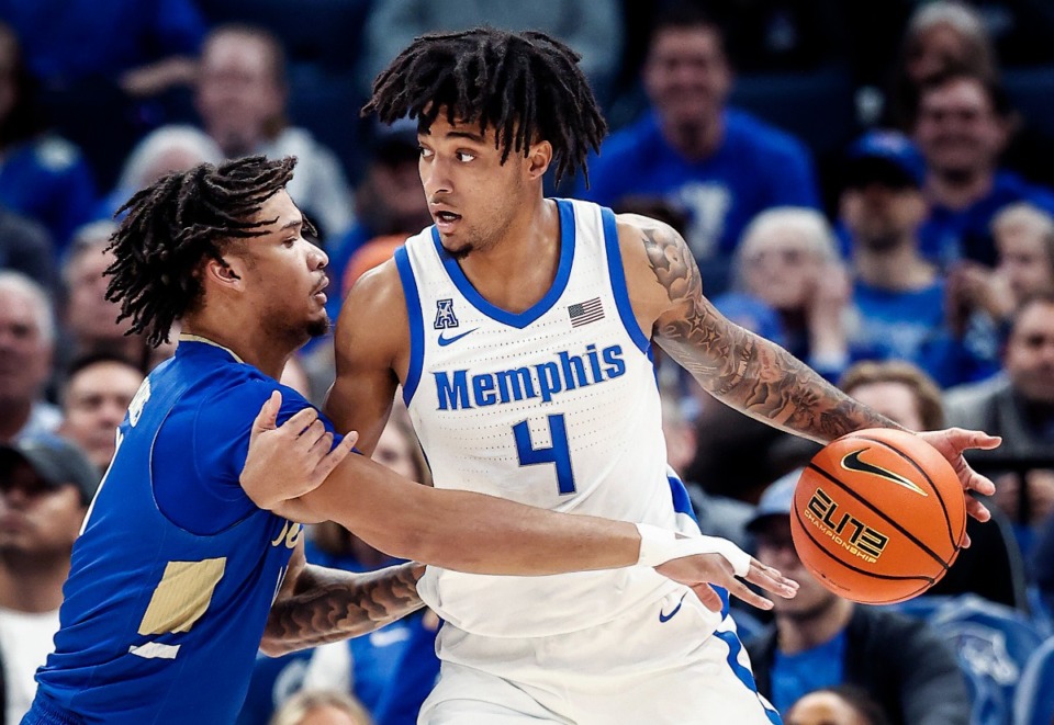
<svg viewBox="0 0 1054 725">
<path fill-rule="evenodd" d="M 922 253 L 942 268 L 960 259 L 996 263 L 996 243 L 991 220 L 1008 204 L 1030 202 L 1054 214 L 1054 192 L 1030 184 L 1009 171 L 996 173 L 991 191 L 963 209 L 932 206 L 919 229 Z"/>
</svg>

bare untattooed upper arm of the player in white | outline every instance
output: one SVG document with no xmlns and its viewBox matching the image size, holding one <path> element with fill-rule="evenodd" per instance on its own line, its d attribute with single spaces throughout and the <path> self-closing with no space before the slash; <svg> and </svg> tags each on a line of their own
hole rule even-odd
<svg viewBox="0 0 1054 725">
<path fill-rule="evenodd" d="M 358 431 L 357 446 L 371 454 L 408 364 L 410 321 L 399 272 L 385 262 L 356 282 L 340 310 L 334 338 L 336 381 L 323 412 L 343 433 Z"/>
</svg>

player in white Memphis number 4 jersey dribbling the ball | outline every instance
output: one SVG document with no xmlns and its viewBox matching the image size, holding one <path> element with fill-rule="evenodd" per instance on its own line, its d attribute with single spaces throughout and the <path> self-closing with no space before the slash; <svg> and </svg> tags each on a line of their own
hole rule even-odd
<svg viewBox="0 0 1054 725">
<path fill-rule="evenodd" d="M 366 450 L 401 384 L 437 487 L 688 532 L 652 343 L 724 403 L 800 435 L 895 426 L 722 318 L 666 225 L 543 197 L 546 171 L 584 171 L 605 133 L 563 44 L 492 29 L 419 37 L 363 112 L 417 120 L 435 219 L 340 314 L 325 408 Z M 962 451 L 997 439 L 924 435 L 966 488 L 991 492 Z M 527 578 L 441 566 L 417 589 L 445 620 L 421 723 L 778 722 L 716 593 L 696 600 L 644 569 Z"/>
</svg>

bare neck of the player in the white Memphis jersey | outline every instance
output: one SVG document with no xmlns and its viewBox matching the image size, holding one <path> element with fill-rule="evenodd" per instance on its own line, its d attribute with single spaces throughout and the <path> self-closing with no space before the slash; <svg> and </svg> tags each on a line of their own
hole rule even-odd
<svg viewBox="0 0 1054 725">
<path fill-rule="evenodd" d="M 525 208 L 485 249 L 460 264 L 472 286 L 492 305 L 522 313 L 546 296 L 565 240 L 557 203 L 542 199 Z"/>
</svg>

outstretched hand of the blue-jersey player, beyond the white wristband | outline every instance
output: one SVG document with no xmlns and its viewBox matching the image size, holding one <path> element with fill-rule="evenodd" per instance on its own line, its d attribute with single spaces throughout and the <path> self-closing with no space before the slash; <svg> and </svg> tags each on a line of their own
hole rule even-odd
<svg viewBox="0 0 1054 725">
<path fill-rule="evenodd" d="M 765 566 L 753 557 L 750 558 L 750 567 L 742 577 L 747 581 L 756 585 L 765 591 L 780 594 L 784 599 L 793 598 L 798 591 L 798 582 L 783 576 L 777 569 Z M 742 599 L 748 604 L 758 609 L 772 609 L 772 601 L 754 592 L 736 577 L 736 571 L 729 562 L 721 554 L 695 554 L 684 556 L 677 559 L 671 559 L 665 564 L 655 567 L 655 571 L 679 581 L 686 587 L 691 587 L 699 601 L 708 610 L 714 612 L 721 611 L 724 602 L 714 587 L 718 585 L 725 587 L 728 593 Z"/>
</svg>

